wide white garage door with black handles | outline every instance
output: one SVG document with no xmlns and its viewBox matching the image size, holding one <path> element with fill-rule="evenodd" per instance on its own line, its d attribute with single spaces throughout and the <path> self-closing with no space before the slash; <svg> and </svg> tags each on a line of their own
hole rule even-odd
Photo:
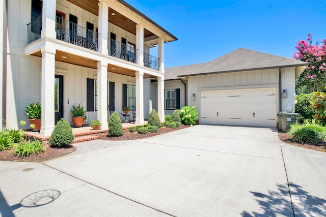
<svg viewBox="0 0 326 217">
<path fill-rule="evenodd" d="M 276 88 L 201 91 L 201 123 L 276 127 Z"/>
</svg>

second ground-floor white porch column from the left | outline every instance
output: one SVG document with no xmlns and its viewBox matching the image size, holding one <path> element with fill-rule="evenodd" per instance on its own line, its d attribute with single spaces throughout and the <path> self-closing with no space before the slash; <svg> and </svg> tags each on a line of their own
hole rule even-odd
<svg viewBox="0 0 326 217">
<path fill-rule="evenodd" d="M 97 62 L 97 118 L 102 123 L 101 130 L 107 130 L 107 62 Z"/>
</svg>

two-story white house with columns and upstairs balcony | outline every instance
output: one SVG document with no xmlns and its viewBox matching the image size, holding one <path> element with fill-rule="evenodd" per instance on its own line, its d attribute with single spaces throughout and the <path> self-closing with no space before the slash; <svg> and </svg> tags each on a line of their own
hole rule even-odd
<svg viewBox="0 0 326 217">
<path fill-rule="evenodd" d="M 60 118 L 72 123 L 79 103 L 102 129 L 108 105 L 135 107 L 137 125 L 151 108 L 164 120 L 164 43 L 177 38 L 146 15 L 123 0 L 5 0 L 0 7 L 2 128 L 18 128 L 25 106 L 37 101 L 41 136 Z"/>
</svg>

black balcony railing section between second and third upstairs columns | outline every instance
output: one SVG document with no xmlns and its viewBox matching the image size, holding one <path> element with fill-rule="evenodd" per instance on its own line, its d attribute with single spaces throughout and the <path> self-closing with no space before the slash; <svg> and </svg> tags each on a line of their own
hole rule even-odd
<svg viewBox="0 0 326 217">
<path fill-rule="evenodd" d="M 136 49 L 130 45 L 123 44 L 114 39 L 107 39 L 108 55 L 136 63 Z"/>
</svg>

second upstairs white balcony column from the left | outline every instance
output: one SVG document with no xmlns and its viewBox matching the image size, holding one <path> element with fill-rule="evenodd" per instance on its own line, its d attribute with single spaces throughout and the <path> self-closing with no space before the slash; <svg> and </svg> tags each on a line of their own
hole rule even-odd
<svg viewBox="0 0 326 217">
<path fill-rule="evenodd" d="M 101 0 L 102 1 L 102 0 Z M 106 2 L 98 3 L 98 52 L 105 55 L 107 50 L 107 21 L 108 20 L 108 4 Z"/>
</svg>

